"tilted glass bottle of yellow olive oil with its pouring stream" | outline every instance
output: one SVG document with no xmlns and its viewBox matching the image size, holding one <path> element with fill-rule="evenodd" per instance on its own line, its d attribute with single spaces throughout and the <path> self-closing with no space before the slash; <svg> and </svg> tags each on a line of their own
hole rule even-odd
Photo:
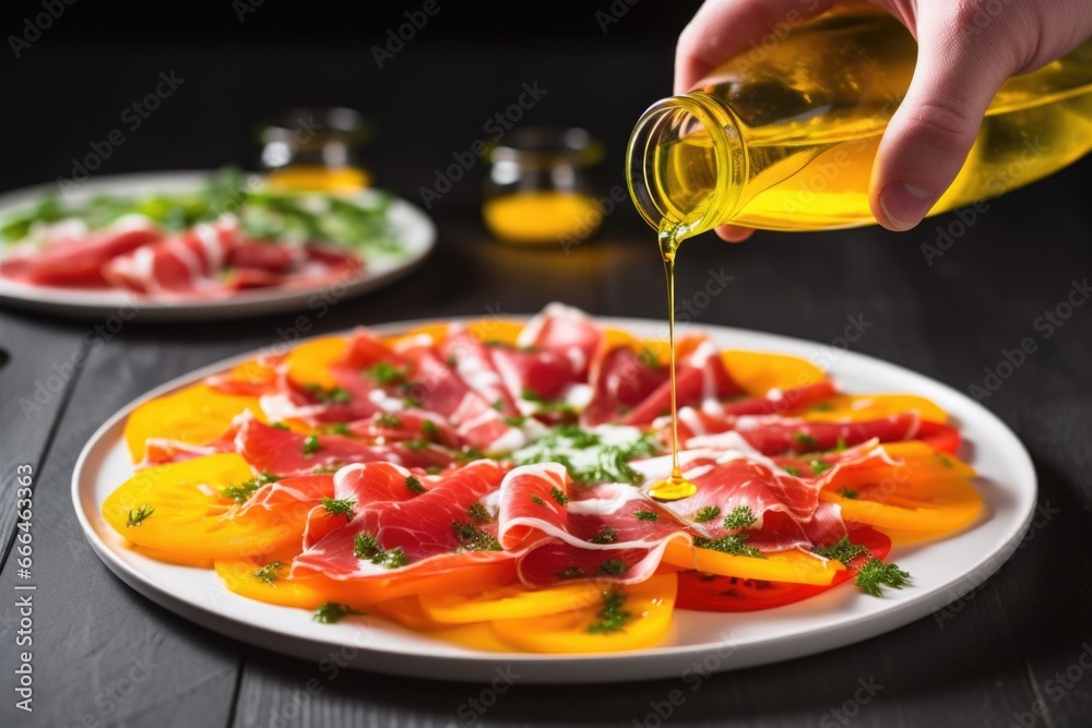
<svg viewBox="0 0 1092 728">
<path fill-rule="evenodd" d="M 629 140 L 627 180 L 638 211 L 658 231 L 668 277 L 679 242 L 717 225 L 875 224 L 873 160 L 916 57 L 914 38 L 891 15 L 842 10 L 650 107 Z M 959 177 L 929 214 L 1028 184 L 1090 148 L 1092 41 L 1085 41 L 1006 82 Z M 672 355 L 674 371 L 674 346 Z M 674 418 L 674 403 L 672 409 Z"/>
</svg>

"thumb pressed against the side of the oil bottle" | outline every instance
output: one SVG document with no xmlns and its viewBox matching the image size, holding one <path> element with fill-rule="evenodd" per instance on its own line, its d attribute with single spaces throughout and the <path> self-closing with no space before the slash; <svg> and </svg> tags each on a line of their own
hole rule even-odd
<svg viewBox="0 0 1092 728">
<path fill-rule="evenodd" d="M 986 108 L 1014 70 L 995 49 L 1004 46 L 961 37 L 947 23 L 934 23 L 942 29 L 931 34 L 928 24 L 918 26 L 914 77 L 873 166 L 869 203 L 889 230 L 914 227 L 945 193 L 963 167 Z"/>
</svg>

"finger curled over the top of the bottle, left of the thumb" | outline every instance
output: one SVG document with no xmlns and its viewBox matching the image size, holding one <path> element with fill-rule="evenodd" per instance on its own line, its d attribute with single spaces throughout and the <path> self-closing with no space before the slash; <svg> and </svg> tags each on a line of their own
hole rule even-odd
<svg viewBox="0 0 1092 728">
<path fill-rule="evenodd" d="M 679 35 L 675 93 L 682 94 L 710 71 L 830 9 L 832 0 L 705 0 Z M 779 33 L 780 32 L 780 33 Z"/>
</svg>

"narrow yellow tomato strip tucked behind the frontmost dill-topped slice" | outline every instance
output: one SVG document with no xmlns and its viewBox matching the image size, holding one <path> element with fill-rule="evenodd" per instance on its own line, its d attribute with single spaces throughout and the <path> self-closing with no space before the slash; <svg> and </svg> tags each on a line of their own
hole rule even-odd
<svg viewBox="0 0 1092 728">
<path fill-rule="evenodd" d="M 598 604 L 601 599 L 598 586 L 582 582 L 545 589 L 511 585 L 473 595 L 429 594 L 420 597 L 420 606 L 437 622 L 466 624 L 555 614 L 589 607 Z"/>
</svg>

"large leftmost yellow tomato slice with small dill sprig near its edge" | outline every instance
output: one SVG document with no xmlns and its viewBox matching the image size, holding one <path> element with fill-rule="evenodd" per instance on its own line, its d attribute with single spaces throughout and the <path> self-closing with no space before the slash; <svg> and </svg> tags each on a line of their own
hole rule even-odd
<svg viewBox="0 0 1092 728">
<path fill-rule="evenodd" d="M 103 517 L 138 546 L 199 559 L 268 553 L 301 538 L 306 509 L 235 513 L 222 491 L 253 476 L 235 453 L 145 468 L 107 497 Z"/>
</svg>

